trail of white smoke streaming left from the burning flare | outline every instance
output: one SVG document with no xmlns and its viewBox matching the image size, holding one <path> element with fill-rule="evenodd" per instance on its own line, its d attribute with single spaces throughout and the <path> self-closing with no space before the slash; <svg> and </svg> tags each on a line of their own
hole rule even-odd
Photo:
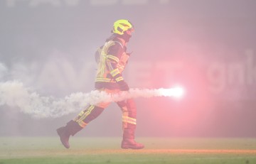
<svg viewBox="0 0 256 164">
<path fill-rule="evenodd" d="M 25 114 L 36 118 L 60 117 L 84 109 L 88 104 L 119 102 L 137 97 L 172 96 L 169 89 L 129 89 L 129 92 L 107 94 L 98 90 L 90 93 L 76 92 L 62 99 L 43 97 L 17 81 L 0 82 L 0 106 L 18 106 Z"/>
</svg>

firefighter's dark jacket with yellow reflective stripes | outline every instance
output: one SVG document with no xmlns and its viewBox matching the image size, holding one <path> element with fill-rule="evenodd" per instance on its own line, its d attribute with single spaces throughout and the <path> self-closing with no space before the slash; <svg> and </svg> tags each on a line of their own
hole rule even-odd
<svg viewBox="0 0 256 164">
<path fill-rule="evenodd" d="M 107 40 L 95 53 L 97 62 L 96 89 L 119 89 L 118 82 L 124 80 L 122 72 L 127 65 L 129 54 L 118 38 Z"/>
</svg>

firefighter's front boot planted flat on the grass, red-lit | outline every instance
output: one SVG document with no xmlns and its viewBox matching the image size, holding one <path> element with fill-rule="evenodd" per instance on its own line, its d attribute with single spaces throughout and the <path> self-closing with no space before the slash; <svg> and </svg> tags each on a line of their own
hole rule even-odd
<svg viewBox="0 0 256 164">
<path fill-rule="evenodd" d="M 144 145 L 134 141 L 134 130 L 124 129 L 121 148 L 142 149 Z"/>
</svg>

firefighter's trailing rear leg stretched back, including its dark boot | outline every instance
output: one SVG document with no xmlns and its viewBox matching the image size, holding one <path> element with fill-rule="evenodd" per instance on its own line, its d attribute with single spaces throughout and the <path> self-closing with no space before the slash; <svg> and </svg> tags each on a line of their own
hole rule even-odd
<svg viewBox="0 0 256 164">
<path fill-rule="evenodd" d="M 63 143 L 63 146 L 65 146 L 65 148 L 70 148 L 70 136 L 74 136 L 75 133 L 78 133 L 78 131 L 85 128 L 90 121 L 96 119 L 107 105 L 107 103 L 99 104 L 99 106 L 90 105 L 85 110 L 81 111 L 75 119 L 69 121 L 66 126 L 57 129 L 57 133 L 60 136 L 60 141 Z"/>
</svg>

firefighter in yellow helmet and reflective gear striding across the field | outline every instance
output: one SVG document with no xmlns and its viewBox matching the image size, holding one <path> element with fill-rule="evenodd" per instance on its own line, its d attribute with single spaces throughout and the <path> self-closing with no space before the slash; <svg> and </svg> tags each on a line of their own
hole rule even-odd
<svg viewBox="0 0 256 164">
<path fill-rule="evenodd" d="M 122 72 L 127 65 L 130 53 L 127 53 L 127 43 L 132 37 L 134 27 L 127 20 L 120 19 L 114 22 L 112 35 L 107 38 L 105 45 L 97 49 L 95 60 L 97 62 L 97 75 L 95 89 L 115 94 L 120 91 L 128 91 L 129 86 L 124 81 Z M 90 105 L 81 111 L 75 119 L 70 120 L 65 126 L 57 129 L 60 141 L 65 148 L 70 148 L 69 138 L 85 128 L 93 119 L 96 119 L 110 102 L 102 102 Z M 133 99 L 117 102 L 122 110 L 123 138 L 121 148 L 141 149 L 144 145 L 134 141 L 136 128 L 137 109 Z"/>
</svg>

